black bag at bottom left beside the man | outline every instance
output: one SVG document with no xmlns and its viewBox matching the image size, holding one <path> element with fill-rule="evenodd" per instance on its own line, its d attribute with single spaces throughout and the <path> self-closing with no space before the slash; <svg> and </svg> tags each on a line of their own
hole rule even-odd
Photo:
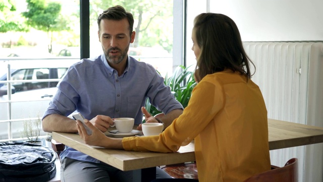
<svg viewBox="0 0 323 182">
<path fill-rule="evenodd" d="M 0 143 L 0 181 L 48 181 L 56 175 L 56 153 L 31 143 Z"/>
</svg>

